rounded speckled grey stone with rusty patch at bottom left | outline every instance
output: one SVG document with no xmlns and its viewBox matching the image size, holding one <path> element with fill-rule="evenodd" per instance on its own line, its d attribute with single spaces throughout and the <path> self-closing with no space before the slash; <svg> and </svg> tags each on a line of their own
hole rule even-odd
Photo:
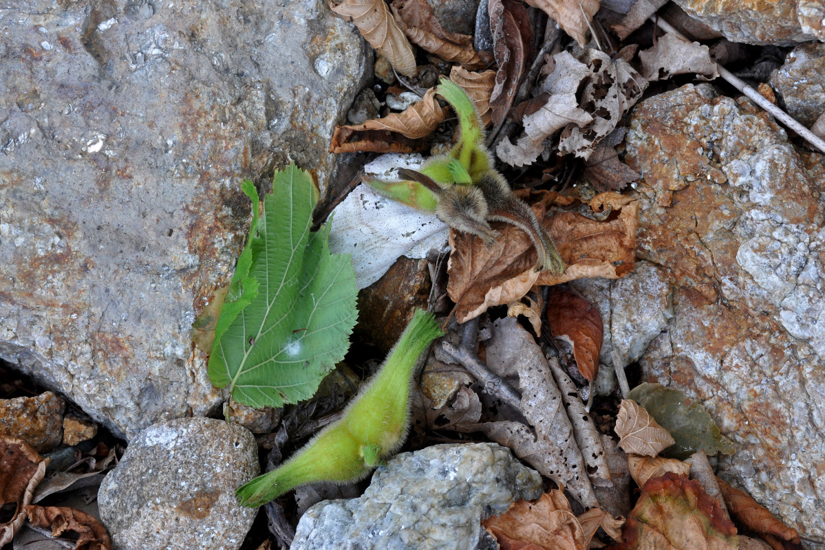
<svg viewBox="0 0 825 550">
<path fill-rule="evenodd" d="M 255 438 L 212 418 L 149 426 L 97 494 L 115 550 L 233 550 L 257 515 L 235 489 L 259 471 Z"/>
</svg>

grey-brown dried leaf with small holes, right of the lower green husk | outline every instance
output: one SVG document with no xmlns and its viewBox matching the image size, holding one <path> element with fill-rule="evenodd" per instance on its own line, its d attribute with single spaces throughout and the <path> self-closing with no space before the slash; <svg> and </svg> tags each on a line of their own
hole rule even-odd
<svg viewBox="0 0 825 550">
<path fill-rule="evenodd" d="M 543 476 L 567 486 L 585 507 L 598 505 L 563 396 L 540 346 L 516 319 L 505 317 L 493 323 L 493 337 L 487 343 L 487 365 L 519 389 L 521 410 L 512 415 L 509 407 L 497 407 L 494 421 L 467 429 L 482 431 L 491 440 L 509 447 Z M 516 418 L 525 419 L 529 425 L 512 421 Z"/>
</svg>

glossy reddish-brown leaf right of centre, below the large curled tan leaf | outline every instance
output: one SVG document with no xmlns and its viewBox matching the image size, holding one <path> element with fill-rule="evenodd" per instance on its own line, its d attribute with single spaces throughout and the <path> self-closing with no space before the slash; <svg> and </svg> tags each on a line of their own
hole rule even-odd
<svg viewBox="0 0 825 550">
<path fill-rule="evenodd" d="M 573 345 L 578 372 L 587 380 L 595 380 L 602 336 L 598 308 L 575 290 L 556 285 L 550 287 L 547 297 L 547 322 L 554 338 Z"/>
</svg>

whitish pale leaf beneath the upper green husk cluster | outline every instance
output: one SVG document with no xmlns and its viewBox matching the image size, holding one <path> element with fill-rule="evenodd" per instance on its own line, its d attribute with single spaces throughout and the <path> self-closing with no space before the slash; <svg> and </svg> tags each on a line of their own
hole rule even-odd
<svg viewBox="0 0 825 550">
<path fill-rule="evenodd" d="M 421 155 L 382 155 L 365 165 L 365 179 L 399 181 L 396 168 L 414 170 L 423 162 Z M 333 210 L 329 250 L 351 255 L 356 286 L 363 289 L 400 256 L 424 258 L 431 248 L 443 250 L 448 231 L 435 214 L 387 199 L 362 183 Z"/>
</svg>

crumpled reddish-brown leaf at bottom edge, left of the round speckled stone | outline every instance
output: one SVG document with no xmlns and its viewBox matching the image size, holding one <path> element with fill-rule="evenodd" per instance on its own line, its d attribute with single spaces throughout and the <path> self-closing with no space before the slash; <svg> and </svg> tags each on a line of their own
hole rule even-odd
<svg viewBox="0 0 825 550">
<path fill-rule="evenodd" d="M 76 541 L 74 550 L 111 550 L 106 528 L 92 515 L 59 506 L 26 506 L 29 523 L 51 529 L 53 537 Z"/>
</svg>

